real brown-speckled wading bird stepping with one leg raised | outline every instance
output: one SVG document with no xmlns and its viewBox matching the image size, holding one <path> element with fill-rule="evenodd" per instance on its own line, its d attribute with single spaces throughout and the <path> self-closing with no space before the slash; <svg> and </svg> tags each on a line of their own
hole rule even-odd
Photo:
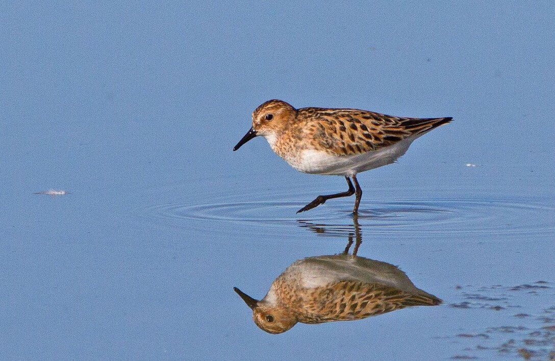
<svg viewBox="0 0 555 361">
<path fill-rule="evenodd" d="M 395 162 L 412 141 L 451 120 L 392 117 L 360 109 L 295 109 L 286 102 L 271 100 L 256 108 L 253 127 L 233 150 L 263 136 L 272 150 L 297 171 L 344 176 L 349 190 L 319 195 L 297 213 L 328 199 L 356 194 L 352 210 L 356 214 L 362 197 L 357 173 Z"/>
</svg>

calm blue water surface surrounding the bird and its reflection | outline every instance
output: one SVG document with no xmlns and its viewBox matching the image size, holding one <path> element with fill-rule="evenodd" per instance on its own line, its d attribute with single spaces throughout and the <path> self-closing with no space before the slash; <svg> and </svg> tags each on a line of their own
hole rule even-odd
<svg viewBox="0 0 555 361">
<path fill-rule="evenodd" d="M 549 1 L 0 4 L 2 358 L 547 359 L 553 19 Z M 344 179 L 264 139 L 231 151 L 272 98 L 455 119 L 359 176 L 359 255 L 443 305 L 256 327 L 233 287 L 262 298 L 355 231 L 353 198 L 295 214 Z"/>
</svg>

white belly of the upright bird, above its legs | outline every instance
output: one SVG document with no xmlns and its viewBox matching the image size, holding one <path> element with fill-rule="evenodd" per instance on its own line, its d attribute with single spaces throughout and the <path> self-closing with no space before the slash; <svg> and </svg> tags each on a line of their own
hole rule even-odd
<svg viewBox="0 0 555 361">
<path fill-rule="evenodd" d="M 352 176 L 370 169 L 387 166 L 407 151 L 415 138 L 407 138 L 389 147 L 354 156 L 336 156 L 324 151 L 302 151 L 296 159 L 286 159 L 297 171 L 329 176 Z"/>
</svg>

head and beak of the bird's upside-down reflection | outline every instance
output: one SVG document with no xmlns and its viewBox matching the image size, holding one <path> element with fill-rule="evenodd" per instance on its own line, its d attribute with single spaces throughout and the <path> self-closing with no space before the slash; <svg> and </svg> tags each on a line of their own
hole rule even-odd
<svg viewBox="0 0 555 361">
<path fill-rule="evenodd" d="M 298 322 L 296 315 L 290 309 L 264 300 L 256 300 L 239 288 L 234 288 L 234 290 L 253 310 L 254 323 L 264 331 L 273 334 L 282 333 L 291 329 Z"/>
</svg>

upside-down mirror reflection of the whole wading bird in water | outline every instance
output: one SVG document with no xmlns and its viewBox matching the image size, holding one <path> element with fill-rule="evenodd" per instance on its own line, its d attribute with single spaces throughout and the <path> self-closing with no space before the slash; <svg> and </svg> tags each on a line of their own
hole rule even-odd
<svg viewBox="0 0 555 361">
<path fill-rule="evenodd" d="M 441 299 L 416 288 L 396 266 L 357 255 L 362 233 L 356 215 L 353 221 L 344 252 L 295 261 L 272 283 L 263 299 L 256 300 L 234 288 L 253 310 L 258 327 L 269 333 L 282 333 L 297 322 L 358 320 L 441 303 Z M 301 227 L 326 232 L 326 226 L 321 224 L 305 222 Z M 349 254 L 353 243 L 355 247 Z"/>
</svg>

